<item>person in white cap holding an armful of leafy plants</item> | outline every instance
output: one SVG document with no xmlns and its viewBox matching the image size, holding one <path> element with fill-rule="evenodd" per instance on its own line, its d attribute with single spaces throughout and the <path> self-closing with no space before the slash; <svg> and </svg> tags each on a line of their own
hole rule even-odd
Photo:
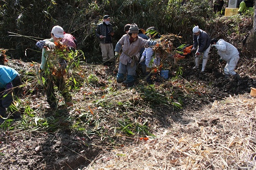
<svg viewBox="0 0 256 170">
<path fill-rule="evenodd" d="M 76 50 L 76 40 L 71 34 L 67 34 L 60 26 L 54 26 L 51 31 L 51 39 L 38 41 L 36 46 L 42 49 L 41 65 L 38 70 L 39 77 L 45 77 L 47 102 L 51 109 L 57 109 L 57 99 L 54 85 L 61 92 L 66 105 L 72 106 L 71 94 L 66 87 L 64 76 L 67 74 L 69 53 Z"/>
</svg>

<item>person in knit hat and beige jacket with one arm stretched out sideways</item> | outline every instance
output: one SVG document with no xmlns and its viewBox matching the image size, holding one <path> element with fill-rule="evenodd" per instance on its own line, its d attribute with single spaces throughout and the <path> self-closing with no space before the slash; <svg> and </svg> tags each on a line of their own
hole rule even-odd
<svg viewBox="0 0 256 170">
<path fill-rule="evenodd" d="M 120 88 L 126 76 L 127 87 L 134 86 L 134 77 L 136 76 L 137 61 L 139 60 L 140 49 L 156 44 L 156 41 L 145 40 L 138 37 L 139 28 L 133 23 L 129 33 L 121 37 L 115 47 L 115 56 L 118 56 L 121 48 L 122 53 L 119 59 L 118 73 L 116 77 L 117 86 Z"/>
</svg>

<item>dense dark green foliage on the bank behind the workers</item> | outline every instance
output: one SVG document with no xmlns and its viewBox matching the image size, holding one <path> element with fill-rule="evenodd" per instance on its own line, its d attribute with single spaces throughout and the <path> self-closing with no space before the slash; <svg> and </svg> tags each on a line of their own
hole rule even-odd
<svg viewBox="0 0 256 170">
<path fill-rule="evenodd" d="M 76 37 L 87 62 L 96 63 L 101 58 L 95 28 L 105 14 L 113 17 L 114 44 L 124 34 L 124 25 L 134 22 L 139 28 L 155 26 L 161 34 L 178 34 L 184 42 L 192 43 L 191 28 L 199 25 L 204 29 L 207 18 L 213 16 L 207 0 L 183 6 L 179 0 L 10 0 L 0 1 L 0 12 L 0 47 L 8 49 L 9 56 L 40 60 L 36 40 L 49 38 L 52 27 L 59 25 Z"/>
</svg>

